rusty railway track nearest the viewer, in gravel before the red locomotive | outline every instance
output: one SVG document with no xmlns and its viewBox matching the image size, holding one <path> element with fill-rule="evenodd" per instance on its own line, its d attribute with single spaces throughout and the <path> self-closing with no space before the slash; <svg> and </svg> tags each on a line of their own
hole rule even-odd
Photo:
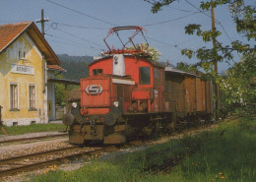
<svg viewBox="0 0 256 182">
<path fill-rule="evenodd" d="M 26 172 L 35 170 L 41 167 L 47 167 L 52 164 L 60 164 L 65 161 L 82 158 L 85 155 L 98 154 L 101 152 L 112 152 L 118 148 L 105 147 L 105 148 L 80 148 L 80 147 L 67 147 L 47 152 L 34 152 L 30 154 L 9 157 L 0 160 L 0 178 L 11 176 L 19 172 Z"/>
</svg>

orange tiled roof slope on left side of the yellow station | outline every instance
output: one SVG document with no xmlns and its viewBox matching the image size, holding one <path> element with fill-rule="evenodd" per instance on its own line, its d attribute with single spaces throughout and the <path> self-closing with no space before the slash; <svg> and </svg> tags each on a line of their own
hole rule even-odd
<svg viewBox="0 0 256 182">
<path fill-rule="evenodd" d="M 32 22 L 23 22 L 0 26 L 0 52 L 31 24 Z"/>
</svg>

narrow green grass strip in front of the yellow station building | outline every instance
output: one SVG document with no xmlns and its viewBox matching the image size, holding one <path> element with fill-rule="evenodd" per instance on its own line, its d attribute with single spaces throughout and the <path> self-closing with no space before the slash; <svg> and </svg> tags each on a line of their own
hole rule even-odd
<svg viewBox="0 0 256 182">
<path fill-rule="evenodd" d="M 63 124 L 32 124 L 28 126 L 4 126 L 4 129 L 8 135 L 22 135 L 34 132 L 65 130 L 66 126 Z M 0 135 L 4 135 L 1 130 Z"/>
</svg>

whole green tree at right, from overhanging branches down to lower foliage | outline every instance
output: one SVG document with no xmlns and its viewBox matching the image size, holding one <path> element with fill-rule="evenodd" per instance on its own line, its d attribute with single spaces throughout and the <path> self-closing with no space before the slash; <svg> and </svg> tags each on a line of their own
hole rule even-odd
<svg viewBox="0 0 256 182">
<path fill-rule="evenodd" d="M 162 7 L 169 5 L 174 0 L 145 0 L 153 4 L 152 12 L 158 13 Z M 248 41 L 256 39 L 256 7 L 246 5 L 245 0 L 211 0 L 201 2 L 202 10 L 210 10 L 218 6 L 228 5 L 230 16 L 236 25 L 237 34 L 244 36 Z M 196 34 L 205 42 L 217 40 L 213 48 L 201 47 L 197 50 L 189 48 L 181 51 L 182 55 L 188 58 L 196 56 L 199 62 L 194 66 L 200 66 L 210 76 L 210 78 L 221 86 L 224 91 L 224 104 L 240 108 L 255 101 L 255 90 L 249 91 L 250 82 L 255 80 L 255 52 L 256 44 L 234 40 L 230 44 L 218 41 L 218 36 L 222 34 L 220 30 L 202 30 L 201 25 L 190 24 L 185 27 L 185 33 Z M 242 55 L 241 61 L 226 72 L 225 77 L 219 76 L 214 69 L 216 62 L 229 62 L 233 58 L 233 53 Z M 242 74 L 241 74 L 242 73 Z M 236 91 L 236 93 L 235 93 Z M 246 100 L 246 101 L 245 101 Z M 239 104 L 238 104 L 239 102 Z M 235 103 L 235 104 L 234 104 Z"/>
</svg>

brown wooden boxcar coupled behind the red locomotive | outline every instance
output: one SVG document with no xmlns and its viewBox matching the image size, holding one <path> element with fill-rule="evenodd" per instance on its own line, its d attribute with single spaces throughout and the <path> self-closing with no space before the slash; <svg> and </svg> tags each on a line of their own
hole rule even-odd
<svg viewBox="0 0 256 182">
<path fill-rule="evenodd" d="M 213 84 L 192 74 L 171 67 L 165 68 L 166 111 L 178 117 L 210 117 L 213 112 Z"/>
</svg>

